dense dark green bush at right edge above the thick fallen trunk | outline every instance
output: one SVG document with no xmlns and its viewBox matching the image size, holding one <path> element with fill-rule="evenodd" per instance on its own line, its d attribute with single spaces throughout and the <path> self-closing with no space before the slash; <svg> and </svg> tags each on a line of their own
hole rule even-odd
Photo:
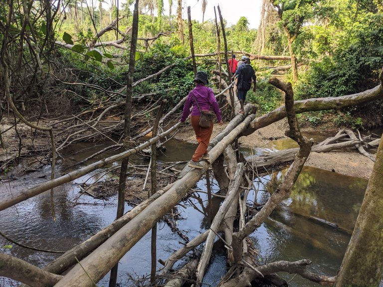
<svg viewBox="0 0 383 287">
<path fill-rule="evenodd" d="M 298 99 L 338 97 L 376 86 L 383 66 L 383 15 L 353 24 L 334 56 L 311 64 L 295 87 Z"/>
</svg>

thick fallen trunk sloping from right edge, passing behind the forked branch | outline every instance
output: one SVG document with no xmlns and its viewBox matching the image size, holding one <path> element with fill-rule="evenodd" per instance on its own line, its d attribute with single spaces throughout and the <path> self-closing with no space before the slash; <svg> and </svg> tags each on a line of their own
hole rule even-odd
<svg viewBox="0 0 383 287">
<path fill-rule="evenodd" d="M 313 112 L 313 111 L 322 111 L 322 110 L 332 110 L 332 109 L 342 109 L 350 106 L 358 106 L 364 103 L 368 103 L 375 100 L 380 100 L 383 97 L 383 69 L 379 76 L 381 84 L 376 86 L 373 89 L 340 97 L 327 97 L 327 98 L 313 98 L 302 101 L 294 102 L 294 110 L 296 114 L 304 112 Z M 266 127 L 271 123 L 282 120 L 286 117 L 285 107 L 279 107 L 274 111 L 256 118 L 252 121 L 251 125 L 244 131 L 241 136 L 247 136 L 254 133 L 256 130 Z"/>
</svg>

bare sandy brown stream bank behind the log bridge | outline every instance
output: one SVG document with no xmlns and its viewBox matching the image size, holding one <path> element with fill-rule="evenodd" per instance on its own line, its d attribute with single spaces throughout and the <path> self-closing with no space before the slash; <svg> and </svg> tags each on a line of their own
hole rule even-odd
<svg viewBox="0 0 383 287">
<path fill-rule="evenodd" d="M 212 138 L 217 135 L 225 126 L 214 126 Z M 272 141 L 279 139 L 287 139 L 284 135 L 284 132 L 288 128 L 288 125 L 285 120 L 273 123 L 265 128 L 255 131 L 253 134 L 247 137 L 241 137 L 238 143 L 243 147 L 264 147 L 270 145 Z M 313 128 L 302 128 L 302 132 L 306 137 L 312 135 L 320 135 L 322 138 L 325 137 L 323 131 Z M 335 132 L 329 132 L 326 137 L 335 136 Z M 180 129 L 177 134 L 179 140 L 187 141 L 190 143 L 196 143 L 194 132 L 191 126 L 185 126 Z M 363 178 L 370 178 L 371 172 L 374 167 L 374 162 L 367 158 L 366 156 L 360 154 L 357 149 L 347 149 L 339 151 L 329 151 L 329 152 L 312 152 L 306 161 L 306 165 L 318 167 L 337 173 L 357 176 Z"/>
</svg>

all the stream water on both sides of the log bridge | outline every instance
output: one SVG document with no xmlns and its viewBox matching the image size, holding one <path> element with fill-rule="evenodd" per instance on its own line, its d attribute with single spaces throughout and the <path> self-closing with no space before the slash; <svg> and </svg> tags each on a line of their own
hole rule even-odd
<svg viewBox="0 0 383 287">
<path fill-rule="evenodd" d="M 62 155 L 67 157 L 67 160 L 57 167 L 57 174 L 64 174 L 71 170 L 74 162 L 103 147 L 103 145 L 94 147 L 77 144 L 73 149 L 66 150 Z M 194 148 L 195 146 L 191 144 L 171 141 L 167 144 L 167 151 L 158 156 L 159 163 L 187 161 L 191 158 Z M 274 147 L 270 147 L 272 148 Z M 246 152 L 251 153 L 249 150 Z M 142 156 L 134 156 L 131 160 L 148 163 L 148 160 Z M 15 194 L 46 181 L 49 173 L 50 168 L 47 166 L 41 171 L 2 183 L 0 200 L 9 194 Z M 268 191 L 272 192 L 273 186 L 278 183 L 282 173 L 255 180 L 258 191 L 250 192 L 248 203 L 265 202 L 269 196 Z M 55 188 L 56 222 L 53 222 L 50 213 L 49 192 L 45 192 L 15 207 L 1 211 L 0 231 L 18 243 L 44 250 L 66 251 L 79 244 L 114 220 L 117 205 L 117 197 L 105 201 L 86 195 L 82 195 L 77 199 L 77 204 L 73 205 L 80 191 L 78 184 L 86 180 L 89 183 L 95 179 L 86 176 Z M 197 185 L 200 189 L 206 189 L 205 179 L 201 179 Z M 366 186 L 367 181 L 360 178 L 316 168 L 305 168 L 298 178 L 291 198 L 285 200 L 283 205 L 251 235 L 262 260 L 272 262 L 309 258 L 313 261 L 309 267 L 310 270 L 334 276 L 349 242 Z M 212 188 L 214 191 L 218 190 L 214 182 L 212 182 Z M 204 214 L 206 202 L 206 195 L 199 193 L 184 202 L 184 207 L 179 206 L 182 218 L 177 221 L 177 226 L 190 239 L 209 226 Z M 126 206 L 126 210 L 129 208 Z M 324 223 L 323 220 L 328 221 L 332 226 Z M 158 258 L 167 259 L 172 252 L 182 246 L 180 241 L 182 241 L 180 237 L 174 234 L 168 225 L 164 222 L 158 224 Z M 1 252 L 39 267 L 44 267 L 58 256 L 53 253 L 25 249 L 0 237 L 0 247 L 8 244 L 12 245 L 12 248 L 2 248 Z M 221 245 L 220 242 L 216 244 Z M 222 248 L 212 257 L 204 282 L 215 286 L 225 273 L 225 265 L 225 251 Z M 158 268 L 160 267 L 158 264 Z M 142 279 L 149 272 L 150 234 L 147 234 L 121 259 L 119 280 L 133 284 L 133 280 Z M 292 277 L 286 274 L 281 276 L 286 279 Z M 108 275 L 97 285 L 107 286 Z M 289 285 L 317 286 L 298 276 Z M 0 286 L 17 286 L 17 283 L 0 278 Z"/>
</svg>

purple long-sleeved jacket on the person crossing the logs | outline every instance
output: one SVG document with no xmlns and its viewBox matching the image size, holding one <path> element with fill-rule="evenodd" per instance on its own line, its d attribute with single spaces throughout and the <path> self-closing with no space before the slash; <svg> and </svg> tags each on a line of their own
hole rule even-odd
<svg viewBox="0 0 383 287">
<path fill-rule="evenodd" d="M 182 117 L 180 122 L 185 122 L 190 114 L 190 108 L 193 106 L 192 116 L 200 116 L 198 106 L 195 105 L 195 100 L 198 102 L 199 108 L 202 111 L 210 111 L 210 107 L 213 109 L 215 115 L 217 116 L 217 121 L 221 122 L 221 110 L 219 110 L 219 106 L 217 101 L 215 100 L 215 96 L 213 90 L 208 87 L 205 87 L 202 84 L 197 84 L 192 91 L 190 91 L 188 98 L 186 99 L 186 103 L 184 106 L 184 112 L 182 113 Z"/>
</svg>

